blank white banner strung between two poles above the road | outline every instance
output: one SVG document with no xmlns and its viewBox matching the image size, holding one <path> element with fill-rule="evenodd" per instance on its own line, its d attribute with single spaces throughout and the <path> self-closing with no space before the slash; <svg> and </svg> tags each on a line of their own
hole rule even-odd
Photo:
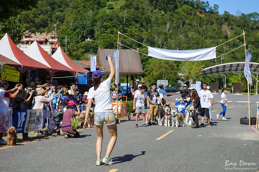
<svg viewBox="0 0 259 172">
<path fill-rule="evenodd" d="M 167 50 L 148 47 L 148 56 L 164 60 L 198 61 L 216 58 L 216 47 L 197 50 Z"/>
</svg>

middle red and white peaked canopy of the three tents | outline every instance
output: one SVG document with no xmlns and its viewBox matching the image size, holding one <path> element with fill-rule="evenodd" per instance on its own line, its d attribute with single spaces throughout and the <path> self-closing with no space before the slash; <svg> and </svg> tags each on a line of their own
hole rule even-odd
<svg viewBox="0 0 259 172">
<path fill-rule="evenodd" d="M 54 58 L 49 56 L 49 54 L 44 51 L 41 46 L 34 41 L 25 51 L 24 53 L 31 57 L 32 59 L 48 66 L 49 68 L 52 69 L 51 75 L 53 76 L 56 72 L 58 71 L 68 71 L 72 75 L 75 75 L 75 71 L 60 62 L 56 61 Z"/>
</svg>

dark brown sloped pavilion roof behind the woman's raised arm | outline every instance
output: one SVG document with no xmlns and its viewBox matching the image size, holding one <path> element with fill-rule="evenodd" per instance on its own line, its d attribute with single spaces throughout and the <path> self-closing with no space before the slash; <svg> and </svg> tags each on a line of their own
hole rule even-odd
<svg viewBox="0 0 259 172">
<path fill-rule="evenodd" d="M 99 67 L 102 66 L 103 74 L 110 73 L 109 63 L 106 60 L 107 55 L 111 55 L 113 57 L 114 49 L 102 49 L 98 48 L 97 56 L 96 56 L 96 65 Z M 115 58 L 112 58 L 112 64 L 115 67 Z M 139 53 L 134 50 L 120 50 L 119 51 L 119 74 L 120 75 L 135 75 L 135 74 L 143 74 L 142 65 L 140 61 Z M 105 71 L 107 70 L 107 71 Z"/>
</svg>

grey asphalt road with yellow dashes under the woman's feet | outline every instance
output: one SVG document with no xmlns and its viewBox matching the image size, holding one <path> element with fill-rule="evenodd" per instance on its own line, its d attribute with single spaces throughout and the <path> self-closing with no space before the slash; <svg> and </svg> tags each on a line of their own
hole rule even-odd
<svg viewBox="0 0 259 172">
<path fill-rule="evenodd" d="M 95 166 L 96 131 L 80 130 L 80 138 L 54 136 L 19 146 L 0 149 L 0 171 L 253 171 L 259 170 L 259 134 L 239 119 L 247 115 L 247 105 L 228 106 L 228 121 L 217 120 L 220 105 L 213 106 L 213 125 L 198 129 L 149 126 L 135 128 L 135 121 L 118 124 L 118 139 L 111 154 L 114 165 Z M 251 106 L 255 116 L 256 106 Z M 199 120 L 200 122 L 200 120 Z M 139 125 L 142 120 L 139 121 Z M 170 132 L 160 140 L 160 136 Z M 102 157 L 109 142 L 104 127 Z M 228 162 L 228 163 L 226 163 Z M 225 169 L 233 168 L 238 169 Z M 240 162 L 250 163 L 247 165 Z M 256 163 L 251 164 L 251 163 Z M 228 165 L 228 166 L 226 166 Z"/>
</svg>

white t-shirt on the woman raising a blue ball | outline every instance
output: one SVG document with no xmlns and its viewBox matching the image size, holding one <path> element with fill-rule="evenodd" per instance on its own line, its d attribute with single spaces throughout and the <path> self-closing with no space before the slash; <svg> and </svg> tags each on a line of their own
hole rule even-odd
<svg viewBox="0 0 259 172">
<path fill-rule="evenodd" d="M 96 90 L 94 87 L 89 89 L 87 99 L 95 99 L 95 113 L 112 109 L 110 86 L 111 79 L 108 78 Z"/>
</svg>

